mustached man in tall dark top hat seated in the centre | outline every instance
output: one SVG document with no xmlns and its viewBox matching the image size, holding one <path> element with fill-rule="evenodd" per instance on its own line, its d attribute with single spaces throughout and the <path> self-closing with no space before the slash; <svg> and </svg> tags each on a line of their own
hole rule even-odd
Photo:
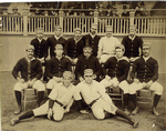
<svg viewBox="0 0 166 131">
<path fill-rule="evenodd" d="M 79 57 L 79 60 L 76 62 L 75 67 L 75 78 L 77 81 L 75 81 L 75 84 L 77 84 L 80 81 L 83 81 L 83 74 L 85 69 L 92 69 L 95 74 L 95 79 L 100 81 L 100 75 L 102 74 L 102 66 L 100 64 L 97 58 L 92 56 L 92 47 L 87 43 L 85 43 L 83 48 L 83 54 Z"/>
</svg>

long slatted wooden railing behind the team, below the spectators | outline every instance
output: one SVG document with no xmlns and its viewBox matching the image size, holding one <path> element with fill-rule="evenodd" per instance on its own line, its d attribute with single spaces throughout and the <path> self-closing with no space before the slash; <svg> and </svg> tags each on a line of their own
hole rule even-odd
<svg viewBox="0 0 166 131">
<path fill-rule="evenodd" d="M 166 33 L 166 17 L 134 17 L 134 12 L 129 17 L 98 17 L 95 11 L 94 16 L 64 16 L 63 11 L 59 16 L 3 16 L 1 17 L 0 34 L 35 34 L 35 28 L 43 28 L 44 34 L 53 34 L 54 26 L 63 27 L 63 34 L 73 34 L 74 28 L 81 28 L 82 33 L 89 33 L 91 23 L 97 23 L 97 32 L 104 36 L 105 26 L 113 26 L 114 36 L 125 36 L 129 31 L 129 27 L 137 26 L 137 33 L 149 37 L 165 37 Z"/>
</svg>

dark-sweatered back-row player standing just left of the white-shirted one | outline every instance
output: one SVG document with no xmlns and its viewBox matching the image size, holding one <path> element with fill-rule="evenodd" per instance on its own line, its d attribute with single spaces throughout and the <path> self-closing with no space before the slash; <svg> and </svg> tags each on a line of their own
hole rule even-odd
<svg viewBox="0 0 166 131">
<path fill-rule="evenodd" d="M 101 39 L 101 37 L 98 37 L 96 33 L 97 33 L 97 24 L 95 23 L 92 23 L 91 24 L 91 32 L 86 36 L 83 36 L 83 40 L 84 40 L 84 43 L 85 42 L 89 42 L 89 44 L 92 47 L 92 54 L 94 57 L 97 56 L 97 51 L 98 51 L 98 41 Z M 87 41 L 85 41 L 87 40 Z"/>
</svg>

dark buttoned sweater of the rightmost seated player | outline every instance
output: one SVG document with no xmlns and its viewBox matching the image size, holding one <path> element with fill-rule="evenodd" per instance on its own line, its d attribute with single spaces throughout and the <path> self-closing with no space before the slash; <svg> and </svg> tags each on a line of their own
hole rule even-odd
<svg viewBox="0 0 166 131">
<path fill-rule="evenodd" d="M 141 82 L 148 82 L 151 80 L 154 82 L 158 79 L 158 63 L 153 58 L 145 62 L 142 57 L 134 62 L 131 75 L 133 79 L 137 78 Z"/>
</svg>

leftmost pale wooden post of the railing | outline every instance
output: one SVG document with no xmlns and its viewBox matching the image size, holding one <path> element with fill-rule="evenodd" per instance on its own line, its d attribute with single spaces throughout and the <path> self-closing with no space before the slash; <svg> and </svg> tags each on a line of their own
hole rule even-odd
<svg viewBox="0 0 166 131">
<path fill-rule="evenodd" d="M 29 14 L 29 11 L 24 10 L 22 14 L 23 14 L 23 36 L 28 36 L 28 14 Z"/>
</svg>

